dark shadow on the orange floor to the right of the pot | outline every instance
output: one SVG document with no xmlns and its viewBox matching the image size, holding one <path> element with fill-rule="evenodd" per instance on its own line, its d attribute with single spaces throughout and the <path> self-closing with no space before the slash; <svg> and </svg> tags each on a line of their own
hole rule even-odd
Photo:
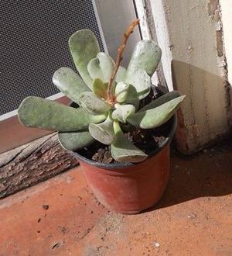
<svg viewBox="0 0 232 256">
<path fill-rule="evenodd" d="M 175 153 L 165 193 L 160 202 L 148 211 L 200 197 L 232 194 L 231 145 L 212 147 L 189 157 Z"/>
</svg>

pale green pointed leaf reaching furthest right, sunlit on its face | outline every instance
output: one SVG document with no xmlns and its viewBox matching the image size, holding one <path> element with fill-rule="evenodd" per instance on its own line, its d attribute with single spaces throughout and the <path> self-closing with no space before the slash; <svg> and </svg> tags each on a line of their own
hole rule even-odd
<svg viewBox="0 0 232 256">
<path fill-rule="evenodd" d="M 182 102 L 184 98 L 185 95 L 172 99 L 169 102 L 165 102 L 155 109 L 137 112 L 134 115 L 129 116 L 127 121 L 133 126 L 140 127 L 142 129 L 151 129 L 161 126 L 173 116 L 179 108 L 180 102 Z"/>
</svg>

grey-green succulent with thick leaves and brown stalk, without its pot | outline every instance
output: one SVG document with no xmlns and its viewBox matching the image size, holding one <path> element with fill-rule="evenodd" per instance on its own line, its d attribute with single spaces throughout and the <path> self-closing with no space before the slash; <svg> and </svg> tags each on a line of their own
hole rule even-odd
<svg viewBox="0 0 232 256">
<path fill-rule="evenodd" d="M 70 67 L 61 67 L 53 75 L 53 84 L 79 107 L 30 96 L 19 106 L 20 122 L 24 126 L 58 131 L 60 144 L 67 150 L 78 150 L 98 140 L 111 145 L 111 155 L 116 161 L 145 160 L 148 155 L 125 137 L 121 124 L 142 129 L 158 127 L 172 117 L 184 95 L 169 92 L 138 109 L 139 101 L 150 93 L 151 76 L 159 64 L 161 49 L 152 40 L 141 40 L 128 68 L 120 66 L 128 37 L 137 24 L 135 20 L 125 32 L 116 63 L 100 52 L 90 29 L 74 33 L 69 47 L 80 76 Z"/>
</svg>

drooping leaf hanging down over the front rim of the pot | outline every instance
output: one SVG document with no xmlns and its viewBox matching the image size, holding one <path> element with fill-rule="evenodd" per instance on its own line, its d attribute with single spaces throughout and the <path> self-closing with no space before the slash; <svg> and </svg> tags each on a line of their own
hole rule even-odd
<svg viewBox="0 0 232 256">
<path fill-rule="evenodd" d="M 118 122 L 114 122 L 114 133 L 116 134 L 116 140 L 111 144 L 111 155 L 116 161 L 137 163 L 148 157 L 142 150 L 131 144 L 121 131 Z"/>
</svg>

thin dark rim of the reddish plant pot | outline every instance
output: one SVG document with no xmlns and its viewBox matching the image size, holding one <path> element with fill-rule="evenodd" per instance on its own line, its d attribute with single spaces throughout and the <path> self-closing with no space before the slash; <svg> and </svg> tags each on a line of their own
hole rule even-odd
<svg viewBox="0 0 232 256">
<path fill-rule="evenodd" d="M 162 141 L 161 144 L 159 144 L 159 147 L 156 147 L 155 150 L 152 150 L 149 154 L 148 154 L 148 158 L 145 159 L 148 160 L 151 157 L 154 157 L 156 154 L 158 154 L 166 145 L 168 145 L 171 140 L 172 137 L 174 136 L 175 132 L 176 132 L 176 126 L 177 126 L 177 118 L 176 118 L 176 114 L 174 114 L 171 117 L 172 123 L 171 123 L 171 127 L 169 130 L 169 134 L 168 136 L 165 138 L 165 140 Z M 84 161 L 87 164 L 90 165 L 94 165 L 98 168 L 104 168 L 104 169 L 118 169 L 118 168 L 128 168 L 131 166 L 136 166 L 138 164 L 142 164 L 145 161 L 139 162 L 139 163 L 131 163 L 131 162 L 121 162 L 121 163 L 112 163 L 112 164 L 104 164 L 104 163 L 100 163 L 97 161 L 93 161 L 90 160 L 87 157 L 82 156 L 81 154 L 78 154 L 77 152 L 74 152 L 72 150 L 70 150 L 70 154 L 73 154 L 74 157 L 76 157 L 78 160 L 80 161 Z"/>
</svg>

